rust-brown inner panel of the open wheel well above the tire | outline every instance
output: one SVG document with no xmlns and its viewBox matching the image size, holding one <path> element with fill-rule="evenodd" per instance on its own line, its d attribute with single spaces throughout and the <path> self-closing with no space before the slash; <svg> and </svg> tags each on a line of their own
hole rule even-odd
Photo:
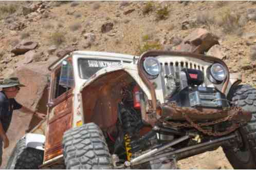
<svg viewBox="0 0 256 170">
<path fill-rule="evenodd" d="M 100 128 L 112 127 L 118 118 L 117 106 L 121 89 L 133 79 L 123 70 L 102 75 L 82 91 L 85 123 L 95 122 Z"/>
</svg>

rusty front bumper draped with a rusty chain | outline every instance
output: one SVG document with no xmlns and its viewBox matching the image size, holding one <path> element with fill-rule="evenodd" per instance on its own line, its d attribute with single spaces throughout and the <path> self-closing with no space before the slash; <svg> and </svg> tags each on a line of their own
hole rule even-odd
<svg viewBox="0 0 256 170">
<path fill-rule="evenodd" d="M 251 120 L 251 112 L 244 111 L 239 107 L 231 107 L 225 109 L 206 109 L 206 108 L 190 108 L 178 107 L 176 105 L 161 104 L 157 107 L 157 115 L 160 119 L 186 120 L 182 115 L 186 114 L 194 121 L 213 121 L 231 117 L 232 121 L 248 122 Z"/>
</svg>

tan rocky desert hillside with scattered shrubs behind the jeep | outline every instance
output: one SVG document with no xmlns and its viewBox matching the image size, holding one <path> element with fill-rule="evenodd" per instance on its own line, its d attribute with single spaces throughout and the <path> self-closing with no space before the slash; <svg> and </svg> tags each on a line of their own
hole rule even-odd
<svg viewBox="0 0 256 170">
<path fill-rule="evenodd" d="M 256 85 L 254 2 L 0 2 L 1 78 L 24 67 L 47 74 L 49 63 L 76 49 L 139 55 L 149 49 L 191 50 L 196 40 L 205 43 L 196 52 L 216 55 L 231 72 L 243 74 L 243 83 Z M 207 154 L 180 167 L 232 168 L 221 149 L 210 155 L 223 166 L 209 163 Z"/>
</svg>

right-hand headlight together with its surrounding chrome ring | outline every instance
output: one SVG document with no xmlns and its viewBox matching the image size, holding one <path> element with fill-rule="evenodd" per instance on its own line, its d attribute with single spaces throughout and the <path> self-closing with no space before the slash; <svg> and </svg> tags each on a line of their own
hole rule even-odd
<svg viewBox="0 0 256 170">
<path fill-rule="evenodd" d="M 214 70 L 214 68 L 216 68 L 216 67 L 221 68 L 221 70 L 216 72 Z M 227 78 L 227 70 L 220 63 L 212 64 L 210 67 L 208 67 L 208 71 L 207 72 L 208 72 L 208 79 L 210 80 L 210 82 L 212 82 L 214 84 L 221 84 Z M 221 74 L 223 74 L 223 75 L 221 76 Z"/>
</svg>

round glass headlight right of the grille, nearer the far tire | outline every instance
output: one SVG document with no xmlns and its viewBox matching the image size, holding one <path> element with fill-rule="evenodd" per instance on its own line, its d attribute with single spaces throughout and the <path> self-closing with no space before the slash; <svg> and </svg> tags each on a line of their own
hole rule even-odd
<svg viewBox="0 0 256 170">
<path fill-rule="evenodd" d="M 217 81 L 223 81 L 226 79 L 227 72 L 226 72 L 226 69 L 223 67 L 223 65 L 219 63 L 215 63 L 211 66 L 210 71 L 213 79 Z"/>
</svg>

